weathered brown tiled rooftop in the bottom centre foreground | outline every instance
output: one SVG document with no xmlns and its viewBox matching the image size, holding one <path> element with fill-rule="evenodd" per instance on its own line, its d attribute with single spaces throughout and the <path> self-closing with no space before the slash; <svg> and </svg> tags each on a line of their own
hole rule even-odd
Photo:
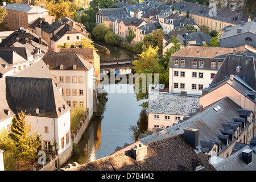
<svg viewBox="0 0 256 182">
<path fill-rule="evenodd" d="M 202 153 L 197 154 L 183 135 L 148 144 L 146 150 L 147 156 L 141 160 L 136 160 L 132 151 L 127 150 L 64 170 L 193 171 L 201 167 L 204 171 L 214 171 L 207 158 Z"/>
</svg>

